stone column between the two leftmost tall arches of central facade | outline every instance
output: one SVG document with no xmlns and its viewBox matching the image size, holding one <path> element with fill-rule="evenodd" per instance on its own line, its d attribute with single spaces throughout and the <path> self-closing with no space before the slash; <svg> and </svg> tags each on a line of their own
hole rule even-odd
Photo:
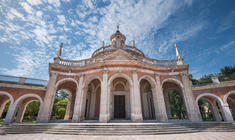
<svg viewBox="0 0 235 140">
<path fill-rule="evenodd" d="M 76 91 L 75 103 L 74 103 L 74 111 L 73 111 L 73 119 L 72 122 L 81 121 L 81 102 L 82 102 L 82 89 L 83 89 L 83 75 L 79 78 L 78 88 Z"/>
</svg>

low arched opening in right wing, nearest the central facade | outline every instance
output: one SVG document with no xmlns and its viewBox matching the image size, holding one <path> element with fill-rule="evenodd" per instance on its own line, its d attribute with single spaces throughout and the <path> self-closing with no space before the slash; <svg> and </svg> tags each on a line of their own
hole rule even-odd
<svg viewBox="0 0 235 140">
<path fill-rule="evenodd" d="M 203 121 L 224 121 L 224 113 L 221 107 L 222 100 L 219 97 L 205 93 L 199 95 L 196 102 Z"/>
</svg>

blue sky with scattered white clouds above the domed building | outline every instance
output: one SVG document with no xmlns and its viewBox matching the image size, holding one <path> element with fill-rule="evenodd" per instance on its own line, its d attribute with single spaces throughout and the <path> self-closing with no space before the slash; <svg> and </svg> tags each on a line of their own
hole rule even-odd
<svg viewBox="0 0 235 140">
<path fill-rule="evenodd" d="M 0 74 L 48 79 L 64 59 L 84 59 L 120 24 L 126 44 L 175 59 L 177 43 L 195 78 L 235 65 L 234 0 L 0 0 Z"/>
</svg>

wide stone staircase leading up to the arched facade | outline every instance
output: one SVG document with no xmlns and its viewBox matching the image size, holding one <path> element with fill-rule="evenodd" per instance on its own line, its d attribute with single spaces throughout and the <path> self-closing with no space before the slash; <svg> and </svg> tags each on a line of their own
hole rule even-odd
<svg viewBox="0 0 235 140">
<path fill-rule="evenodd" d="M 235 132 L 233 123 L 22 123 L 2 127 L 7 134 L 157 135 Z"/>
</svg>

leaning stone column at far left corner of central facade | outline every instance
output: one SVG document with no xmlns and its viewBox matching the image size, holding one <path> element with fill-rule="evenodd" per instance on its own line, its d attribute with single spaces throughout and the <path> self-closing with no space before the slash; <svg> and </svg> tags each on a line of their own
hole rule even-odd
<svg viewBox="0 0 235 140">
<path fill-rule="evenodd" d="M 50 120 L 56 95 L 56 79 L 57 74 L 51 73 L 49 82 L 47 84 L 47 90 L 46 95 L 44 97 L 43 105 L 38 113 L 37 122 L 48 122 Z"/>
</svg>

